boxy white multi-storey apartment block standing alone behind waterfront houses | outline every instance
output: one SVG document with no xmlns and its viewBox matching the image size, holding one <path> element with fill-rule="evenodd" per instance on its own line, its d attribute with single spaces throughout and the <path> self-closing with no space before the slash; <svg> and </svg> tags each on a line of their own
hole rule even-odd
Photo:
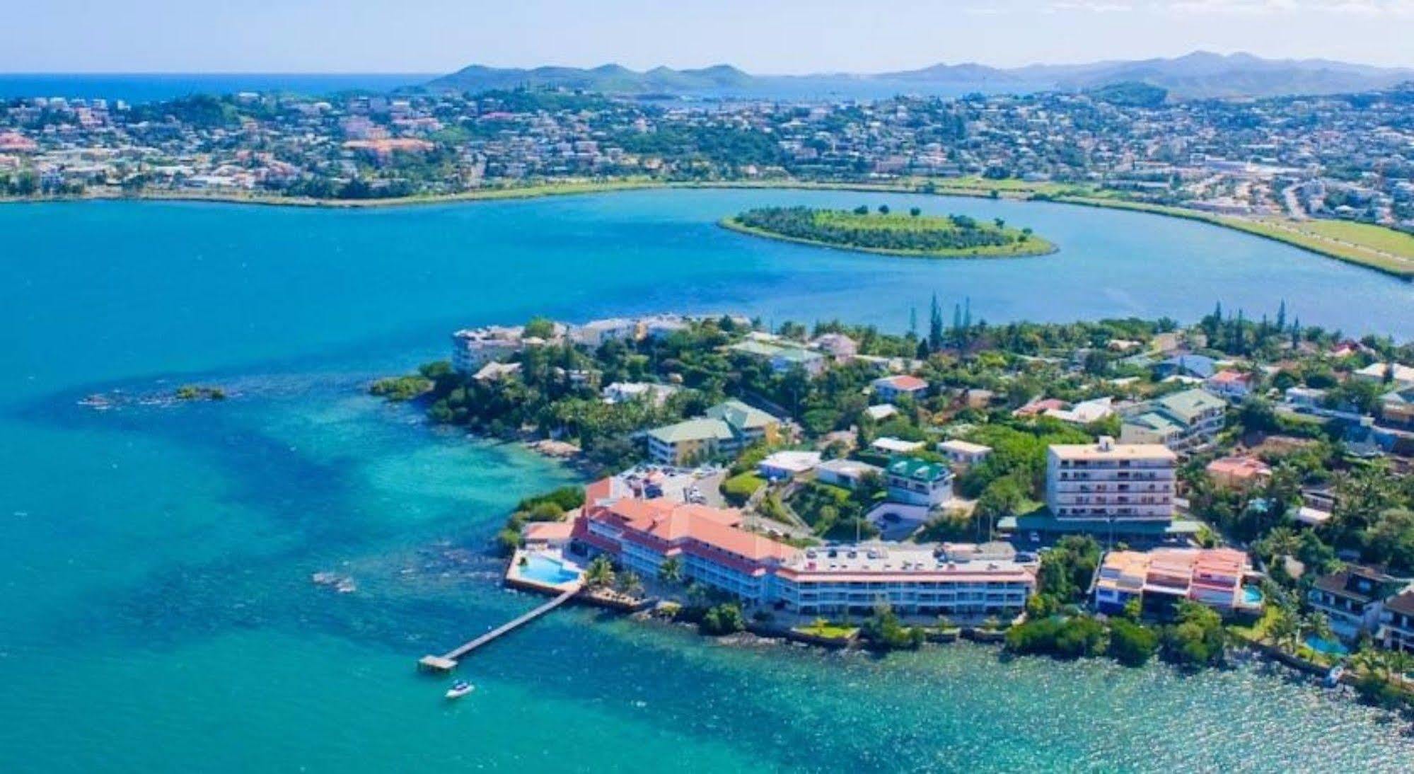
<svg viewBox="0 0 1414 774">
<path fill-rule="evenodd" d="M 1169 522 L 1174 466 L 1162 444 L 1056 444 L 1046 451 L 1046 507 L 1060 524 Z"/>
</svg>

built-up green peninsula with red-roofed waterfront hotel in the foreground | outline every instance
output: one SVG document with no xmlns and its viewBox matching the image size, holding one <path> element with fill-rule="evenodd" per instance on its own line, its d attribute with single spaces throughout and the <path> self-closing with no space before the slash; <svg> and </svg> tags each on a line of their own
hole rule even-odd
<svg viewBox="0 0 1414 774">
<path fill-rule="evenodd" d="M 1411 364 L 1408 342 L 1284 304 L 1192 327 L 987 325 L 960 304 L 947 325 L 935 299 L 904 335 L 732 316 L 462 330 L 450 361 L 370 392 L 595 477 L 525 498 L 492 541 L 509 586 L 559 601 L 880 651 L 962 637 L 1202 668 L 1236 647 L 1397 707 Z"/>
</svg>

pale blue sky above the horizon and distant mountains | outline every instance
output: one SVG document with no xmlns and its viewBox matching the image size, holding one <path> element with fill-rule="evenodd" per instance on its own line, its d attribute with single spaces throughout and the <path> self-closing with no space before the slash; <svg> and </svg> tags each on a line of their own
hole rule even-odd
<svg viewBox="0 0 1414 774">
<path fill-rule="evenodd" d="M 8 6 L 8 7 L 4 7 Z M 1414 0 L 4 0 L 0 72 L 762 74 L 1172 57 L 1414 67 Z"/>
</svg>

